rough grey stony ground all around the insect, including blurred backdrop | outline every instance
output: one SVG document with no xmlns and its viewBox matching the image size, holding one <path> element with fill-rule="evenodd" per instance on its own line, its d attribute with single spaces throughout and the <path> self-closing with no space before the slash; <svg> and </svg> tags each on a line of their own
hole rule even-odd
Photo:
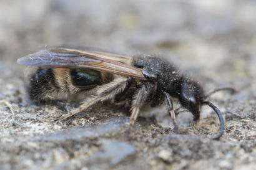
<svg viewBox="0 0 256 170">
<path fill-rule="evenodd" d="M 0 169 L 256 169 L 255 1 L 1 1 Z M 99 104 L 67 121 L 27 100 L 16 59 L 57 45 L 160 54 L 197 79 L 225 117 L 203 108 L 199 123 L 164 109 L 140 116 Z M 47 45 L 47 47 L 45 47 Z"/>
</svg>

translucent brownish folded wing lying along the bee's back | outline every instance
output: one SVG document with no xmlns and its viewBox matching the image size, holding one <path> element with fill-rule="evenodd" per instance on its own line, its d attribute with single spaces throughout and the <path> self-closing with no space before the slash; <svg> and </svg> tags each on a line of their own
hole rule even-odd
<svg viewBox="0 0 256 170">
<path fill-rule="evenodd" d="M 18 64 L 42 67 L 90 68 L 146 80 L 140 68 L 129 65 L 132 57 L 106 52 L 75 49 L 50 49 L 29 54 L 17 60 Z"/>
</svg>

